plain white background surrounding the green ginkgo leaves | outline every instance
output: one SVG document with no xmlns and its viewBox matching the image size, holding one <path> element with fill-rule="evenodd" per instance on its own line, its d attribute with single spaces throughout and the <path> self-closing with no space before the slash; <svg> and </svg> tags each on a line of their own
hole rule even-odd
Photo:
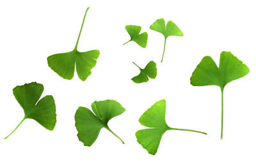
<svg viewBox="0 0 256 162">
<path fill-rule="evenodd" d="M 92 75 L 84 82 L 58 76 L 47 65 L 52 54 L 73 50 L 88 11 L 78 50 L 100 50 Z M 0 2 L 0 161 L 255 161 L 255 4 L 253 1 L 1 1 Z M 184 33 L 164 37 L 149 29 L 157 18 L 172 20 Z M 147 31 L 147 48 L 129 40 L 126 25 Z M 189 78 L 205 55 L 219 64 L 221 51 L 232 52 L 249 68 L 246 77 L 224 92 L 224 132 L 221 92 L 217 86 L 193 87 Z M 131 78 L 149 61 L 157 77 L 135 84 Z M 56 102 L 57 123 L 48 131 L 23 118 L 12 89 L 29 82 L 44 85 L 42 97 Z M 115 99 L 126 111 L 111 119 L 92 147 L 77 138 L 74 114 L 79 106 Z M 173 128 L 196 129 L 208 135 L 167 131 L 155 156 L 136 142 L 144 127 L 138 119 L 156 101 L 166 99 L 166 122 Z"/>
</svg>

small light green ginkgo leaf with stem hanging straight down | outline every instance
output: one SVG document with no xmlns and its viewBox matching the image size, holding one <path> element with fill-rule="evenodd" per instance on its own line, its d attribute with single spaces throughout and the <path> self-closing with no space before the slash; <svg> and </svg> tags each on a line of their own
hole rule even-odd
<svg viewBox="0 0 256 162">
<path fill-rule="evenodd" d="M 172 21 L 168 21 L 166 26 L 163 18 L 157 19 L 154 24 L 150 26 L 150 29 L 162 33 L 164 35 L 164 50 L 166 39 L 168 36 L 183 36 L 183 33 L 180 31 L 179 27 L 177 27 Z M 164 58 L 164 52 L 161 59 L 161 62 Z"/>
</svg>

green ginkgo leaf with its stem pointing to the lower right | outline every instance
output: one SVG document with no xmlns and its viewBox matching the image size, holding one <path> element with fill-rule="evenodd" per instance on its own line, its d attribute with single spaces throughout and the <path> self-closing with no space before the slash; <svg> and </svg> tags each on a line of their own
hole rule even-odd
<svg viewBox="0 0 256 162">
<path fill-rule="evenodd" d="M 117 101 L 107 99 L 104 101 L 94 101 L 92 103 L 92 110 L 94 114 L 88 108 L 79 107 L 75 115 L 77 136 L 79 141 L 83 142 L 85 146 L 91 146 L 95 142 L 101 128 L 106 128 L 113 133 L 109 129 L 108 122 L 113 117 L 122 114 L 125 108 Z M 113 135 L 121 140 L 115 133 Z"/>
</svg>

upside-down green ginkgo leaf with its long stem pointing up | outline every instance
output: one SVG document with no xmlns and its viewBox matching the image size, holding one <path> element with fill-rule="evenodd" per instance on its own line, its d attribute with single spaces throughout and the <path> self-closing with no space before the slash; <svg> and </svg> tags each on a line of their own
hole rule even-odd
<svg viewBox="0 0 256 162">
<path fill-rule="evenodd" d="M 86 13 L 89 8 L 87 8 L 84 19 L 86 17 Z M 83 24 L 84 24 L 83 19 Z M 89 75 L 92 73 L 92 68 L 97 63 L 97 58 L 99 57 L 99 50 L 90 50 L 87 52 L 79 52 L 77 51 L 78 41 L 83 29 L 83 24 L 81 26 L 81 30 L 79 36 L 77 38 L 76 47 L 71 52 L 54 54 L 47 58 L 49 67 L 58 73 L 60 77 L 71 80 L 74 77 L 75 64 L 77 75 L 81 80 L 86 80 Z"/>
</svg>

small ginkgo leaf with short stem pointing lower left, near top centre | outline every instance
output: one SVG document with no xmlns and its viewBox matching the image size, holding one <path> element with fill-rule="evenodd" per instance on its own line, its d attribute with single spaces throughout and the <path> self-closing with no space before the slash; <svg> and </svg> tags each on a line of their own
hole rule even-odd
<svg viewBox="0 0 256 162">
<path fill-rule="evenodd" d="M 147 32 L 141 33 L 141 27 L 140 26 L 125 26 L 126 31 L 131 36 L 131 40 L 129 41 L 135 41 L 140 45 L 140 47 L 145 48 L 147 46 L 147 40 L 148 40 L 148 34 Z M 128 43 L 127 41 L 126 43 Z M 124 45 L 126 44 L 124 43 Z"/>
</svg>

